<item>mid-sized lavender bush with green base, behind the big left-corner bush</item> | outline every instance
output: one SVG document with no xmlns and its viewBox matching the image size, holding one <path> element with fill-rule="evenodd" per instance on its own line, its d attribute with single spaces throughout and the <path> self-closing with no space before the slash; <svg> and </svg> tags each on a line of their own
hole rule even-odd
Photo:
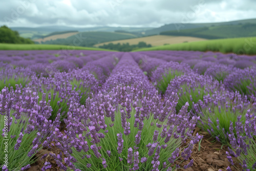
<svg viewBox="0 0 256 171">
<path fill-rule="evenodd" d="M 72 89 L 70 83 L 71 75 L 66 72 L 57 72 L 54 77 L 32 77 L 28 87 L 38 92 L 39 99 L 46 94 L 46 101 L 52 106 L 52 115 L 50 119 L 54 120 L 60 113 L 60 120 L 67 117 L 69 104 L 71 101 L 80 101 L 79 91 Z"/>
</svg>

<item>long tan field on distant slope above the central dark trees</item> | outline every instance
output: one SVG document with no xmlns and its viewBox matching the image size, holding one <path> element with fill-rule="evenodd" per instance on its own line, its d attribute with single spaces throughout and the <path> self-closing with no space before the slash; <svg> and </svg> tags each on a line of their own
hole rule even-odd
<svg viewBox="0 0 256 171">
<path fill-rule="evenodd" d="M 197 37 L 189 37 L 189 36 L 165 36 L 165 35 L 155 35 L 155 36 L 147 36 L 147 37 L 139 37 L 139 38 L 131 38 L 131 39 L 124 39 L 124 40 L 116 40 L 116 41 L 108 41 L 103 42 L 101 44 L 94 45 L 95 47 L 99 47 L 106 44 L 126 44 L 129 43 L 130 45 L 137 45 L 140 41 L 146 42 L 146 44 L 151 44 L 152 46 L 161 46 L 165 44 L 179 44 L 182 42 L 190 42 L 190 41 L 200 41 L 206 40 L 203 38 Z"/>
</svg>

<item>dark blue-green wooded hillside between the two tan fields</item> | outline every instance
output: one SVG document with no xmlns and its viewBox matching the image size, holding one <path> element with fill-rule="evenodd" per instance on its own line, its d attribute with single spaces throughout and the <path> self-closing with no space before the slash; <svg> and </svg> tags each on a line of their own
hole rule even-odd
<svg viewBox="0 0 256 171">
<path fill-rule="evenodd" d="M 75 44 L 80 43 L 79 46 L 92 47 L 93 45 L 99 44 L 101 42 L 129 39 L 135 37 L 137 36 L 131 33 L 82 32 L 65 39 L 45 41 L 44 44 L 73 45 L 75 42 Z M 80 39 L 81 41 L 79 41 L 78 39 Z"/>
</svg>

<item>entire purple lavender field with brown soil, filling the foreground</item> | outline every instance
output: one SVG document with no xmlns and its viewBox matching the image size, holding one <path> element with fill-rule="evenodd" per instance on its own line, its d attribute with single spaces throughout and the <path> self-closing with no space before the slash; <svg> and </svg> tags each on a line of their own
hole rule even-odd
<svg viewBox="0 0 256 171">
<path fill-rule="evenodd" d="M 256 170 L 256 56 L 0 51 L 0 170 Z"/>
</svg>

